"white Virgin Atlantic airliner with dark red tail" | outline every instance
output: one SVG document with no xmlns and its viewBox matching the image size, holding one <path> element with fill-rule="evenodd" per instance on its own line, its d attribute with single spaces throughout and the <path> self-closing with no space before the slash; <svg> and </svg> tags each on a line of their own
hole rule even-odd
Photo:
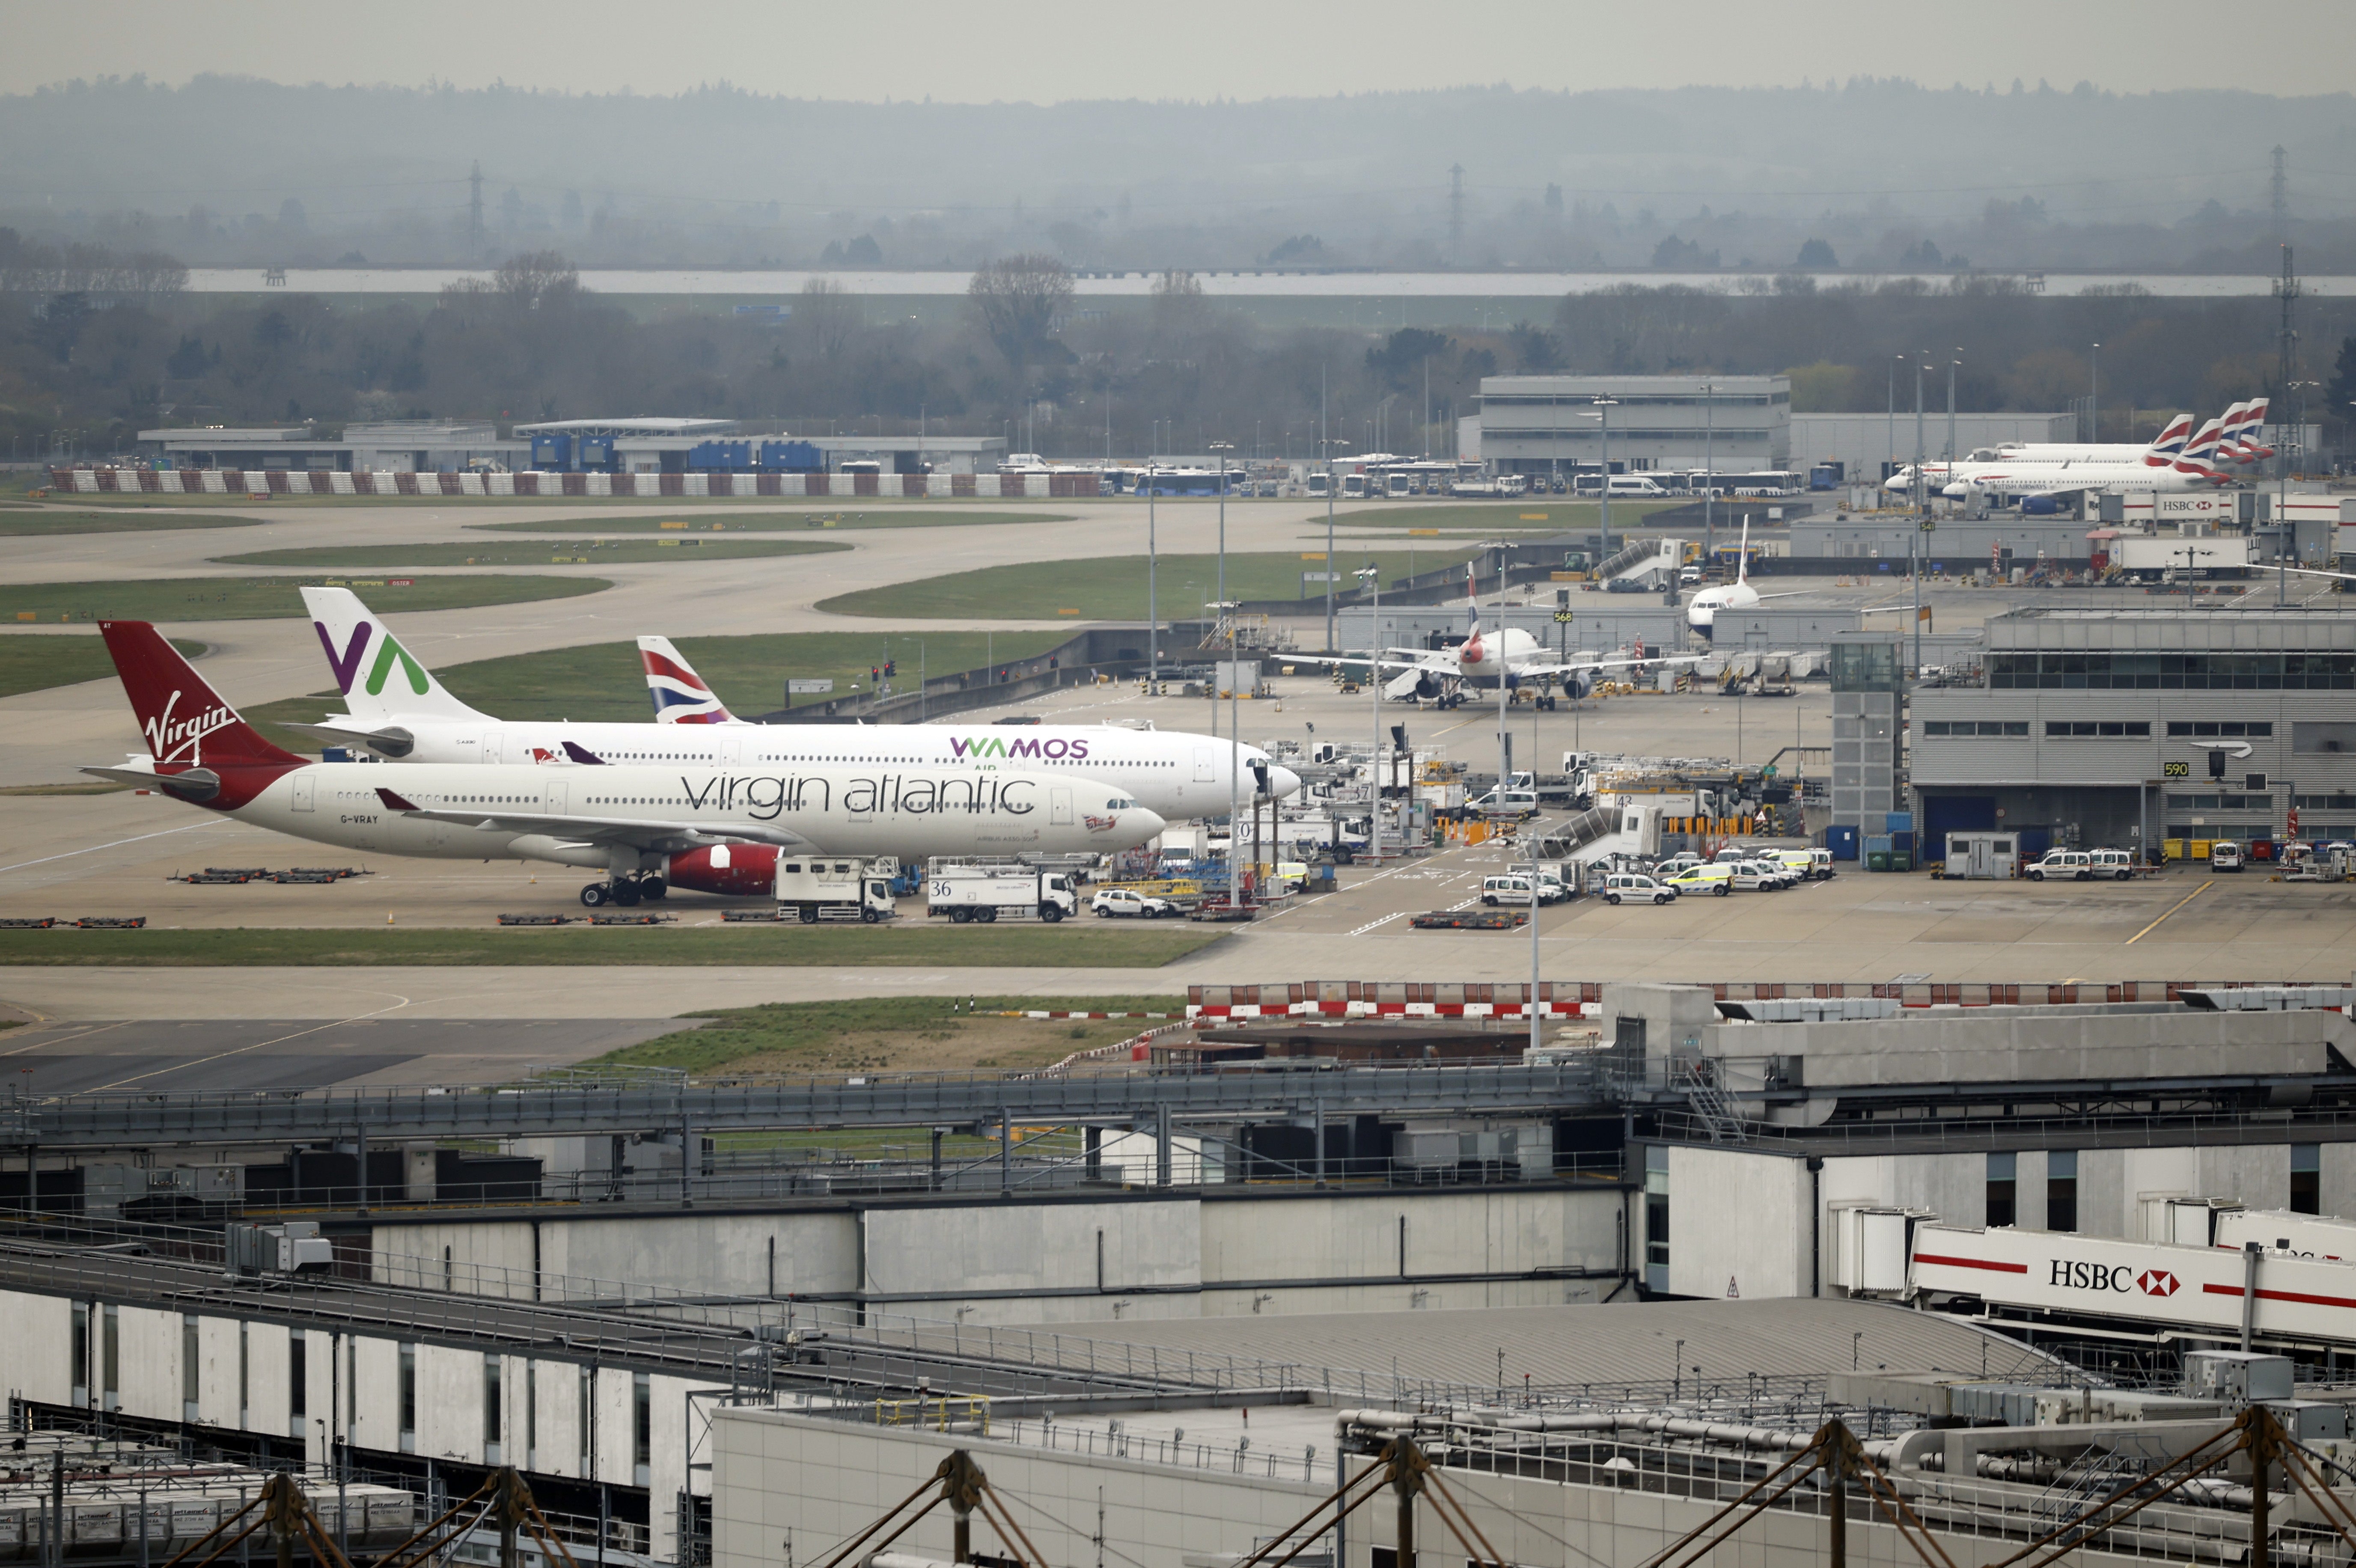
<svg viewBox="0 0 2356 1568">
<path fill-rule="evenodd" d="M 313 763 L 266 742 L 148 622 L 99 622 L 146 756 L 82 772 L 377 855 L 603 866 L 582 904 L 662 897 L 681 857 L 1129 850 L 1162 817 L 1070 772 L 884 760 L 752 765 Z"/>
</svg>

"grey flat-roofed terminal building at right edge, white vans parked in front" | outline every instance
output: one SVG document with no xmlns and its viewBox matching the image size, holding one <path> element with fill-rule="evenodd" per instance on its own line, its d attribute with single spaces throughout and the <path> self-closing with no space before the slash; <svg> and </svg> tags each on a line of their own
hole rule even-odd
<svg viewBox="0 0 2356 1568">
<path fill-rule="evenodd" d="M 2356 619 L 2311 610 L 2014 610 L 1984 685 L 1913 697 L 1925 850 L 2356 838 Z"/>
</svg>

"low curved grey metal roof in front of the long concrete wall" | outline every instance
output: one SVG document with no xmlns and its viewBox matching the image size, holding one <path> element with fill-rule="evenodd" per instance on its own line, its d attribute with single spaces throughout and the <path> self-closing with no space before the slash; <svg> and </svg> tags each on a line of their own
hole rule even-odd
<svg viewBox="0 0 2356 1568">
<path fill-rule="evenodd" d="M 1074 1330 L 1072 1323 L 1053 1328 Z M 1520 1387 L 1524 1375 L 1555 1387 L 1668 1382 L 1680 1363 L 1685 1377 L 1699 1366 L 1713 1384 L 1746 1373 L 1845 1373 L 1852 1349 L 1854 1366 L 1866 1370 L 2043 1380 L 2052 1368 L 2045 1356 L 1951 1316 L 1805 1297 L 1164 1318 L 1121 1323 L 1098 1340 L 1468 1387 L 1496 1384 L 1501 1349 L 1508 1387 Z"/>
</svg>

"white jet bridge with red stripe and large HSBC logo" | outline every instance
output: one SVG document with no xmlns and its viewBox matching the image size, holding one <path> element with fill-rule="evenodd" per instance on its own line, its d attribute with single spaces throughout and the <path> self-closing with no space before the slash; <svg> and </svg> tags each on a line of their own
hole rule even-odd
<svg viewBox="0 0 2356 1568">
<path fill-rule="evenodd" d="M 2250 1307 L 2255 1335 L 2356 1344 L 2356 1267 L 2288 1253 L 1922 1224 L 1908 1285 L 1915 1297 L 2165 1323 L 2215 1340 L 2238 1337 Z"/>
</svg>

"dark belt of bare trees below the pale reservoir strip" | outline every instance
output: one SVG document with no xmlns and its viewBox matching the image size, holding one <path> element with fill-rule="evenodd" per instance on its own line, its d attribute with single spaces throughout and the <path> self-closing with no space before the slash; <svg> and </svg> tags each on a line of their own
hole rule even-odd
<svg viewBox="0 0 2356 1568">
<path fill-rule="evenodd" d="M 0 257 L 24 245 L 0 231 Z M 497 421 L 676 412 L 775 421 L 801 433 L 1023 433 L 1046 454 L 1202 452 L 1315 457 L 1449 452 L 1482 377 L 1791 372 L 1795 410 L 1913 400 L 1930 363 L 1944 405 L 1960 360 L 1963 410 L 2064 410 L 2102 344 L 2104 428 L 2132 410 L 2217 412 L 2276 391 L 2266 299 L 2158 299 L 2137 290 L 2040 297 L 2017 285 L 1835 285 L 1786 275 L 1741 290 L 1614 287 L 1496 327 L 1270 327 L 1164 273 L 1147 299 L 1079 308 L 1046 254 L 975 273 L 966 311 L 916 320 L 829 283 L 789 315 L 648 320 L 580 285 L 558 252 L 511 257 L 436 301 L 332 306 L 309 294 L 196 297 L 167 257 L 40 259 L 0 280 L 0 443 L 33 457 L 57 428 L 97 452 L 158 424 L 313 424 L 466 417 Z M 52 271 L 38 271 L 52 268 Z M 108 280 L 111 287 L 97 287 Z M 155 280 L 134 287 L 134 280 Z M 2295 379 L 2328 381 L 2311 417 L 2356 400 L 2356 301 L 2299 306 Z M 2276 412 L 2288 414 L 2290 403 Z M 1322 424 L 1319 424 L 1319 410 Z"/>
</svg>

